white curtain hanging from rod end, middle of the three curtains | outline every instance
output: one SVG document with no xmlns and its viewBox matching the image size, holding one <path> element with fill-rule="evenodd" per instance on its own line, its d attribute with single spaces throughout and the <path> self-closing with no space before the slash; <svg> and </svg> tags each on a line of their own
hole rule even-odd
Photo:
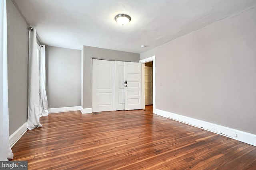
<svg viewBox="0 0 256 170">
<path fill-rule="evenodd" d="M 36 48 L 36 29 L 29 30 L 28 37 L 28 129 L 42 127 L 40 118 L 39 72 Z"/>
</svg>

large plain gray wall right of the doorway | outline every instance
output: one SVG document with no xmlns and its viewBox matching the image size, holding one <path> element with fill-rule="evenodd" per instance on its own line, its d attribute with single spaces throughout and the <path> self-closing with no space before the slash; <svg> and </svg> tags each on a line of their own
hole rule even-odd
<svg viewBox="0 0 256 170">
<path fill-rule="evenodd" d="M 256 134 L 255 30 L 254 7 L 157 47 L 157 109 Z"/>
</svg>

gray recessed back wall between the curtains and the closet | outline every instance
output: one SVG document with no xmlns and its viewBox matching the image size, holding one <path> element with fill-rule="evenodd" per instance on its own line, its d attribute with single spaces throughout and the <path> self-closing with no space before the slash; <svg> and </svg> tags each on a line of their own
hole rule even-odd
<svg viewBox="0 0 256 170">
<path fill-rule="evenodd" d="M 49 108 L 81 106 L 81 50 L 46 46 Z"/>
</svg>

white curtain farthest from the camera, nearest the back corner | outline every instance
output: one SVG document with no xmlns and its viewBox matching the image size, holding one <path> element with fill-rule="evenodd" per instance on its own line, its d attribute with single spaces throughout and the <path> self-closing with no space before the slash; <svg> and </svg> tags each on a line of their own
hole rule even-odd
<svg viewBox="0 0 256 170">
<path fill-rule="evenodd" d="M 45 90 L 45 45 L 40 45 L 40 115 L 48 115 L 48 101 Z"/>
</svg>

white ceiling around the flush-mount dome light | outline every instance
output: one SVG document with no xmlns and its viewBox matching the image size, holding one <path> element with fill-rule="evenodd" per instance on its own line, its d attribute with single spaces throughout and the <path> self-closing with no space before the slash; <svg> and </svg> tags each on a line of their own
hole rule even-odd
<svg viewBox="0 0 256 170">
<path fill-rule="evenodd" d="M 256 6 L 256 0 L 13 0 L 42 44 L 142 53 Z M 132 20 L 114 20 L 124 13 Z M 140 45 L 146 45 L 141 48 Z"/>
</svg>

